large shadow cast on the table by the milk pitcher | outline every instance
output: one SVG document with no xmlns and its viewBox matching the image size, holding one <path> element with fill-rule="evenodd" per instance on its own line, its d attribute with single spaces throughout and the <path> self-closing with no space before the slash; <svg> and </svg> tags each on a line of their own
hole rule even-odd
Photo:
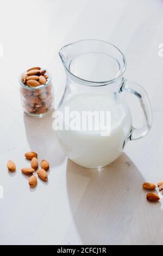
<svg viewBox="0 0 163 256">
<path fill-rule="evenodd" d="M 143 182 L 143 176 L 124 153 L 101 170 L 79 167 L 68 160 L 67 191 L 73 216 L 68 232 L 78 233 L 84 245 L 139 244 L 141 238 L 150 243 L 146 215 L 151 211 L 153 218 L 159 212 L 161 220 L 162 212 L 160 203 L 147 202 Z M 145 233 L 147 241 L 141 237 Z"/>
</svg>

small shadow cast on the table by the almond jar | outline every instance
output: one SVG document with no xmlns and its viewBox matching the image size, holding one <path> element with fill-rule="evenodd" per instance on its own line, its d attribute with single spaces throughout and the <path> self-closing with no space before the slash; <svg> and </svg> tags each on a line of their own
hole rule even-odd
<svg viewBox="0 0 163 256">
<path fill-rule="evenodd" d="M 30 149 L 36 151 L 40 159 L 46 159 L 51 167 L 57 166 L 65 159 L 60 148 L 57 134 L 52 128 L 52 113 L 43 118 L 29 117 L 24 114 L 24 125 Z"/>
</svg>

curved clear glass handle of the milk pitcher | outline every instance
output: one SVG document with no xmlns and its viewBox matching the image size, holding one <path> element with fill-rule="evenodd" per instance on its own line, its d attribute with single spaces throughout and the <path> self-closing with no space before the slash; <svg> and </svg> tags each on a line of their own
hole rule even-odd
<svg viewBox="0 0 163 256">
<path fill-rule="evenodd" d="M 121 92 L 128 92 L 134 94 L 137 99 L 139 99 L 142 111 L 143 111 L 143 124 L 142 127 L 131 130 L 129 139 L 134 141 L 135 139 L 140 139 L 147 135 L 152 127 L 152 110 L 151 104 L 149 102 L 146 90 L 140 86 L 138 83 L 131 82 L 129 80 L 124 80 L 121 88 Z"/>
</svg>

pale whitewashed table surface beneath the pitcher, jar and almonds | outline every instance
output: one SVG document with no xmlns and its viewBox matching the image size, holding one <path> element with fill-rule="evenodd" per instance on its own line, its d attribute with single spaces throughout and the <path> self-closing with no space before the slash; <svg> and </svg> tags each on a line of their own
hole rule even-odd
<svg viewBox="0 0 163 256">
<path fill-rule="evenodd" d="M 163 2 L 95 0 L 0 0 L 1 133 L 0 244 L 158 245 L 163 244 L 162 196 L 146 200 L 145 181 L 163 180 L 162 111 Z M 23 114 L 18 76 L 33 65 L 53 76 L 55 106 L 64 92 L 59 49 L 80 39 L 102 39 L 127 58 L 125 77 L 147 90 L 153 112 L 149 135 L 129 142 L 125 152 L 101 171 L 67 160 L 52 129 L 52 115 Z M 1 54 L 2 55 L 2 54 Z M 127 95 L 135 125 L 139 103 Z M 30 189 L 21 167 L 26 151 L 51 163 L 47 184 Z M 9 173 L 6 163 L 15 161 Z M 1 194 L 2 196 L 2 194 Z"/>
</svg>

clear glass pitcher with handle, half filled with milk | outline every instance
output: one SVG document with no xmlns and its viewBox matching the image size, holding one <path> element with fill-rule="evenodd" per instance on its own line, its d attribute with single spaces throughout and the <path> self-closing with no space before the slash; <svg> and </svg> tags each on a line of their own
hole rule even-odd
<svg viewBox="0 0 163 256">
<path fill-rule="evenodd" d="M 57 112 L 62 113 L 62 124 L 57 129 L 61 146 L 68 158 L 80 166 L 106 166 L 121 155 L 128 141 L 142 138 L 151 129 L 152 113 L 147 93 L 139 84 L 123 77 L 126 59 L 109 42 L 80 40 L 62 47 L 59 56 L 67 75 L 65 92 L 57 108 Z M 140 129 L 132 125 L 123 92 L 139 99 L 143 112 Z M 109 120 L 105 122 L 107 132 L 102 132 L 102 126 L 90 129 L 89 124 L 97 125 L 97 119 L 101 120 L 100 114 L 104 112 L 108 114 L 105 119 Z M 87 125 L 83 121 L 82 126 L 81 120 Z"/>
</svg>

